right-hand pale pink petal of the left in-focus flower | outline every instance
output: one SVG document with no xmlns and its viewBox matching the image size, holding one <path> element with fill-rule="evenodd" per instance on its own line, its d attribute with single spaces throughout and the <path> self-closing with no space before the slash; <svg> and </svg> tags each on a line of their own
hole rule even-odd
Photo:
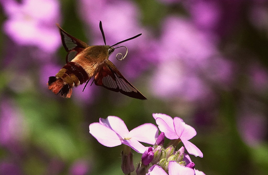
<svg viewBox="0 0 268 175">
<path fill-rule="evenodd" d="M 131 130 L 127 137 L 153 145 L 158 137 L 158 129 L 154 124 L 146 123 Z"/>
</svg>

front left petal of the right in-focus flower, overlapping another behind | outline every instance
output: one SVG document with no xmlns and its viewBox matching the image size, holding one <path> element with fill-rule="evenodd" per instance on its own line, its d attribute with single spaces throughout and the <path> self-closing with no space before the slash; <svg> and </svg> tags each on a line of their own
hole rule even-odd
<svg viewBox="0 0 268 175">
<path fill-rule="evenodd" d="M 178 139 L 179 137 L 176 135 L 176 132 L 174 130 L 174 125 L 172 123 L 172 126 L 168 125 L 162 118 L 155 119 L 158 128 L 161 132 L 165 133 L 166 138 L 168 139 Z"/>
</svg>

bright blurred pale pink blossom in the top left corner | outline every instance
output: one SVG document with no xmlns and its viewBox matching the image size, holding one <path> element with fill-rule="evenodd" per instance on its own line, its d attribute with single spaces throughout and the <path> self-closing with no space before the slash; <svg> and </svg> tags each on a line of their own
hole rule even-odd
<svg viewBox="0 0 268 175">
<path fill-rule="evenodd" d="M 37 46 L 55 52 L 61 44 L 55 23 L 59 22 L 59 2 L 56 0 L 0 1 L 7 20 L 3 31 L 20 45 Z"/>
</svg>

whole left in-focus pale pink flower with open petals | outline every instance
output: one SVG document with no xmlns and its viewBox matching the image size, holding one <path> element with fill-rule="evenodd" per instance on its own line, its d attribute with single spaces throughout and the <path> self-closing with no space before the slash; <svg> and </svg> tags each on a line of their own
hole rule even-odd
<svg viewBox="0 0 268 175">
<path fill-rule="evenodd" d="M 114 147 L 125 144 L 138 153 L 144 153 L 147 148 L 140 142 L 153 145 L 158 137 L 158 129 L 155 125 L 146 123 L 128 131 L 124 121 L 116 116 L 100 118 L 99 123 L 89 125 L 89 130 L 90 134 L 104 146 Z"/>
</svg>

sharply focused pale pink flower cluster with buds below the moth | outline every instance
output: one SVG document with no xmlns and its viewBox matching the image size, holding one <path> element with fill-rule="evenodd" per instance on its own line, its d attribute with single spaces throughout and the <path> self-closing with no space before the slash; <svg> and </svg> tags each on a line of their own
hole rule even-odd
<svg viewBox="0 0 268 175">
<path fill-rule="evenodd" d="M 178 174 L 178 172 L 179 174 L 204 174 L 194 169 L 195 164 L 184 153 L 185 147 L 189 154 L 203 157 L 203 153 L 198 147 L 188 141 L 196 135 L 195 129 L 185 124 L 179 117 L 172 119 L 168 115 L 159 113 L 153 114 L 153 117 L 161 131 L 160 135 L 158 135 L 158 128 L 151 123 L 143 124 L 129 131 L 124 121 L 116 116 L 109 116 L 107 119 L 100 118 L 99 123 L 89 125 L 89 130 L 90 134 L 104 146 L 114 147 L 124 144 L 138 153 L 143 153 L 142 161 L 136 170 L 138 175 L 165 175 L 167 170 L 170 175 Z M 164 136 L 173 143 L 167 149 L 162 147 Z M 184 144 L 184 147 L 174 151 L 173 146 L 177 146 L 174 143 L 177 144 L 180 141 Z M 145 147 L 140 142 L 154 146 Z M 131 151 L 126 150 L 128 149 L 124 148 L 122 151 L 121 167 L 125 174 L 129 174 L 134 171 L 133 168 L 129 168 L 133 167 L 133 159 Z M 128 163 L 128 167 L 123 165 L 124 162 Z"/>
</svg>

